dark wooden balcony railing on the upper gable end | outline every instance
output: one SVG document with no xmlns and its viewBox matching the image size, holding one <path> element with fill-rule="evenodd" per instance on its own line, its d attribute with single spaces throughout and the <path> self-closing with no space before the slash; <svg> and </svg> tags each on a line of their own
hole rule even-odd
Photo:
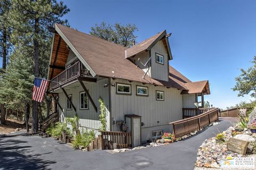
<svg viewBox="0 0 256 170">
<path fill-rule="evenodd" d="M 89 75 L 89 71 L 80 61 L 77 61 L 52 79 L 50 89 L 54 89 L 60 84 L 67 83 L 79 76 L 83 77 L 84 75 Z"/>
</svg>

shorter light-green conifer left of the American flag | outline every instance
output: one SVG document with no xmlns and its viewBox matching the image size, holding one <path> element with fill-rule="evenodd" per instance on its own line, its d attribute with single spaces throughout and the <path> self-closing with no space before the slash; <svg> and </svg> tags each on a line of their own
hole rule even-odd
<svg viewBox="0 0 256 170">
<path fill-rule="evenodd" d="M 23 112 L 28 132 L 29 107 L 31 104 L 33 89 L 33 60 L 29 57 L 31 50 L 24 47 L 15 47 L 10 56 L 10 63 L 5 73 L 0 78 L 0 103 L 7 109 Z"/>
</svg>

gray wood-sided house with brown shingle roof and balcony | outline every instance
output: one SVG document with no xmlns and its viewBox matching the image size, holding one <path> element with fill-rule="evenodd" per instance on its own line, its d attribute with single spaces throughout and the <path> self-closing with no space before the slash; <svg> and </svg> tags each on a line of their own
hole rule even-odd
<svg viewBox="0 0 256 170">
<path fill-rule="evenodd" d="M 130 48 L 55 24 L 48 79 L 60 121 L 79 117 L 82 128 L 98 131 L 99 97 L 107 108 L 107 131 L 127 131 L 133 144 L 170 132 L 182 108 L 196 108 L 210 94 L 209 82 L 191 82 L 175 70 L 166 31 Z M 200 99 L 199 97 L 199 99 Z M 133 121 L 133 122 L 131 122 Z"/>
</svg>

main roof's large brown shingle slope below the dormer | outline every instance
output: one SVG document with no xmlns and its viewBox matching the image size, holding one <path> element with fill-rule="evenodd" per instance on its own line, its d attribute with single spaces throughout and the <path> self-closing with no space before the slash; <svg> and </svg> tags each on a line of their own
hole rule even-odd
<svg viewBox="0 0 256 170">
<path fill-rule="evenodd" d="M 127 50 L 125 47 L 60 24 L 56 24 L 55 27 L 58 27 L 58 30 L 60 30 L 67 41 L 69 41 L 66 43 L 76 49 L 78 54 L 98 76 L 115 77 L 130 81 L 188 90 L 186 83 L 191 81 L 171 66 L 169 67 L 169 81 L 150 79 L 148 75 L 145 76 L 145 79 L 142 79 L 145 72 L 130 60 L 125 59 L 124 52 Z M 159 37 L 163 32 L 164 31 L 153 37 Z M 154 41 L 155 38 L 150 40 L 148 39 L 148 41 Z M 147 46 L 148 45 L 145 45 L 144 47 L 143 45 L 143 48 L 146 48 Z"/>
</svg>

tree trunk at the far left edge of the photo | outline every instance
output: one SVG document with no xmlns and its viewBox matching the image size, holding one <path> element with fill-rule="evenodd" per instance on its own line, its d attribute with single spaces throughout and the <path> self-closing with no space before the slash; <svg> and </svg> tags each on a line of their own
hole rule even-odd
<svg viewBox="0 0 256 170">
<path fill-rule="evenodd" d="M 3 70 L 6 69 L 6 56 L 7 56 L 7 32 L 6 28 L 3 26 Z M 6 109 L 4 104 L 1 104 L 1 124 L 6 123 Z"/>
</svg>

